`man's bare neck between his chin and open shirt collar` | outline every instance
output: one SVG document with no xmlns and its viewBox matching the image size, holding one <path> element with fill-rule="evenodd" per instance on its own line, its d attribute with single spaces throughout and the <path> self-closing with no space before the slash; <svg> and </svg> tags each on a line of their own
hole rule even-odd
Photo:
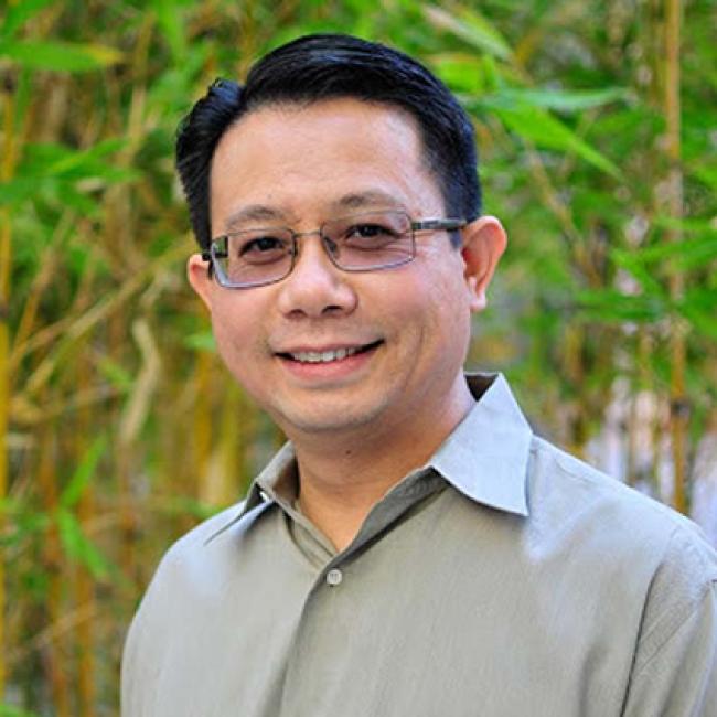
<svg viewBox="0 0 717 717">
<path fill-rule="evenodd" d="M 338 550 L 353 541 L 372 507 L 407 473 L 424 465 L 468 414 L 473 397 L 464 382 L 460 386 L 442 410 L 422 418 L 344 435 L 290 436 L 301 510 Z"/>
</svg>

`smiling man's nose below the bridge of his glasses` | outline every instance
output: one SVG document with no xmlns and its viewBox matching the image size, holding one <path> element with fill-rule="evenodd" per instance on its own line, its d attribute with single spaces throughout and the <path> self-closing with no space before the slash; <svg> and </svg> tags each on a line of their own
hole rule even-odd
<svg viewBox="0 0 717 717">
<path fill-rule="evenodd" d="M 293 270 L 279 285 L 279 310 L 311 319 L 351 313 L 357 297 L 350 275 L 331 263 L 318 232 L 299 236 Z"/>
</svg>

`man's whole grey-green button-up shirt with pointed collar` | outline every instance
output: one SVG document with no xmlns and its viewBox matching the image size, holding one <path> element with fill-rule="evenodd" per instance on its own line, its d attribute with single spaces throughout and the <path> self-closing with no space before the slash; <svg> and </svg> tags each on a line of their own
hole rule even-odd
<svg viewBox="0 0 717 717">
<path fill-rule="evenodd" d="M 535 437 L 502 377 L 336 553 L 286 446 L 164 556 L 124 717 L 717 716 L 717 556 Z M 329 448 L 330 450 L 330 448 Z"/>
</svg>

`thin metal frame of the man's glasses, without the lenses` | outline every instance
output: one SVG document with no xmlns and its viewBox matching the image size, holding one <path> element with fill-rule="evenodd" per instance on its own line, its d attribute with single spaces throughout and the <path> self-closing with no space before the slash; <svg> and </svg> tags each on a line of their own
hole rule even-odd
<svg viewBox="0 0 717 717">
<path fill-rule="evenodd" d="M 281 229 L 283 232 L 287 232 L 291 236 L 291 249 L 289 250 L 289 256 L 291 257 L 291 263 L 289 264 L 289 268 L 286 274 L 281 275 L 280 277 L 276 279 L 269 279 L 267 281 L 253 281 L 249 283 L 236 283 L 231 281 L 227 276 L 224 274 L 224 270 L 222 269 L 221 265 L 218 264 L 217 256 L 216 256 L 216 249 L 217 249 L 217 243 L 222 240 L 227 240 L 232 236 L 236 236 L 237 234 L 242 234 L 243 232 L 235 232 L 235 233 L 227 233 L 227 234 L 222 234 L 220 236 L 214 237 L 211 243 L 208 250 L 203 250 L 202 252 L 202 260 L 208 261 L 210 263 L 210 276 L 212 274 L 212 270 L 214 270 L 216 275 L 216 280 L 218 285 L 225 289 L 254 289 L 257 287 L 265 287 L 265 286 L 270 286 L 271 283 L 278 283 L 279 281 L 283 281 L 291 271 L 293 271 L 293 268 L 297 263 L 297 258 L 299 256 L 299 244 L 298 239 L 303 236 L 312 236 L 312 235 L 318 235 L 319 238 L 321 239 L 321 244 L 323 245 L 324 252 L 327 256 L 329 257 L 329 260 L 333 266 L 336 267 L 336 269 L 340 269 L 341 271 L 346 271 L 350 274 L 360 274 L 360 272 L 365 272 L 365 271 L 383 271 L 384 269 L 393 269 L 395 267 L 404 266 L 406 264 L 410 264 L 416 258 L 416 232 L 456 232 L 458 229 L 462 229 L 468 225 L 468 222 L 462 218 L 456 218 L 456 217 L 446 217 L 446 218 L 424 218 L 424 220 L 413 220 L 410 215 L 407 212 L 404 212 L 402 210 L 383 210 L 385 212 L 390 212 L 392 214 L 403 214 L 407 220 L 408 220 L 408 231 L 410 232 L 410 255 L 407 256 L 405 259 L 400 259 L 399 261 L 392 263 L 392 264 L 386 264 L 386 265 L 379 265 L 379 266 L 372 266 L 372 267 L 344 267 L 338 264 L 335 256 L 332 254 L 331 249 L 328 247 L 327 242 L 331 242 L 332 239 L 323 234 L 323 229 L 327 224 L 331 224 L 333 222 L 338 222 L 341 220 L 347 220 L 352 217 L 361 217 L 361 216 L 371 216 L 372 214 L 377 214 L 382 210 L 378 210 L 376 212 L 363 212 L 361 214 L 349 214 L 345 216 L 339 216 L 335 220 L 327 220 L 323 222 L 318 228 L 312 229 L 311 232 L 295 232 L 291 227 L 289 226 L 257 226 L 257 227 L 250 227 L 248 231 L 278 231 Z M 224 258 L 224 257 L 220 257 Z"/>
</svg>

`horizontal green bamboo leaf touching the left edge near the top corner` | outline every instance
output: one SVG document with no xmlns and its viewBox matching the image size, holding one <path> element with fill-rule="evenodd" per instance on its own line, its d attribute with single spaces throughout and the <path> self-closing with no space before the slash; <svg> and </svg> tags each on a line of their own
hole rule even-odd
<svg viewBox="0 0 717 717">
<path fill-rule="evenodd" d="M 0 57 L 29 69 L 54 72 L 88 72 L 116 65 L 122 53 L 97 44 L 60 41 L 0 41 Z"/>
</svg>

